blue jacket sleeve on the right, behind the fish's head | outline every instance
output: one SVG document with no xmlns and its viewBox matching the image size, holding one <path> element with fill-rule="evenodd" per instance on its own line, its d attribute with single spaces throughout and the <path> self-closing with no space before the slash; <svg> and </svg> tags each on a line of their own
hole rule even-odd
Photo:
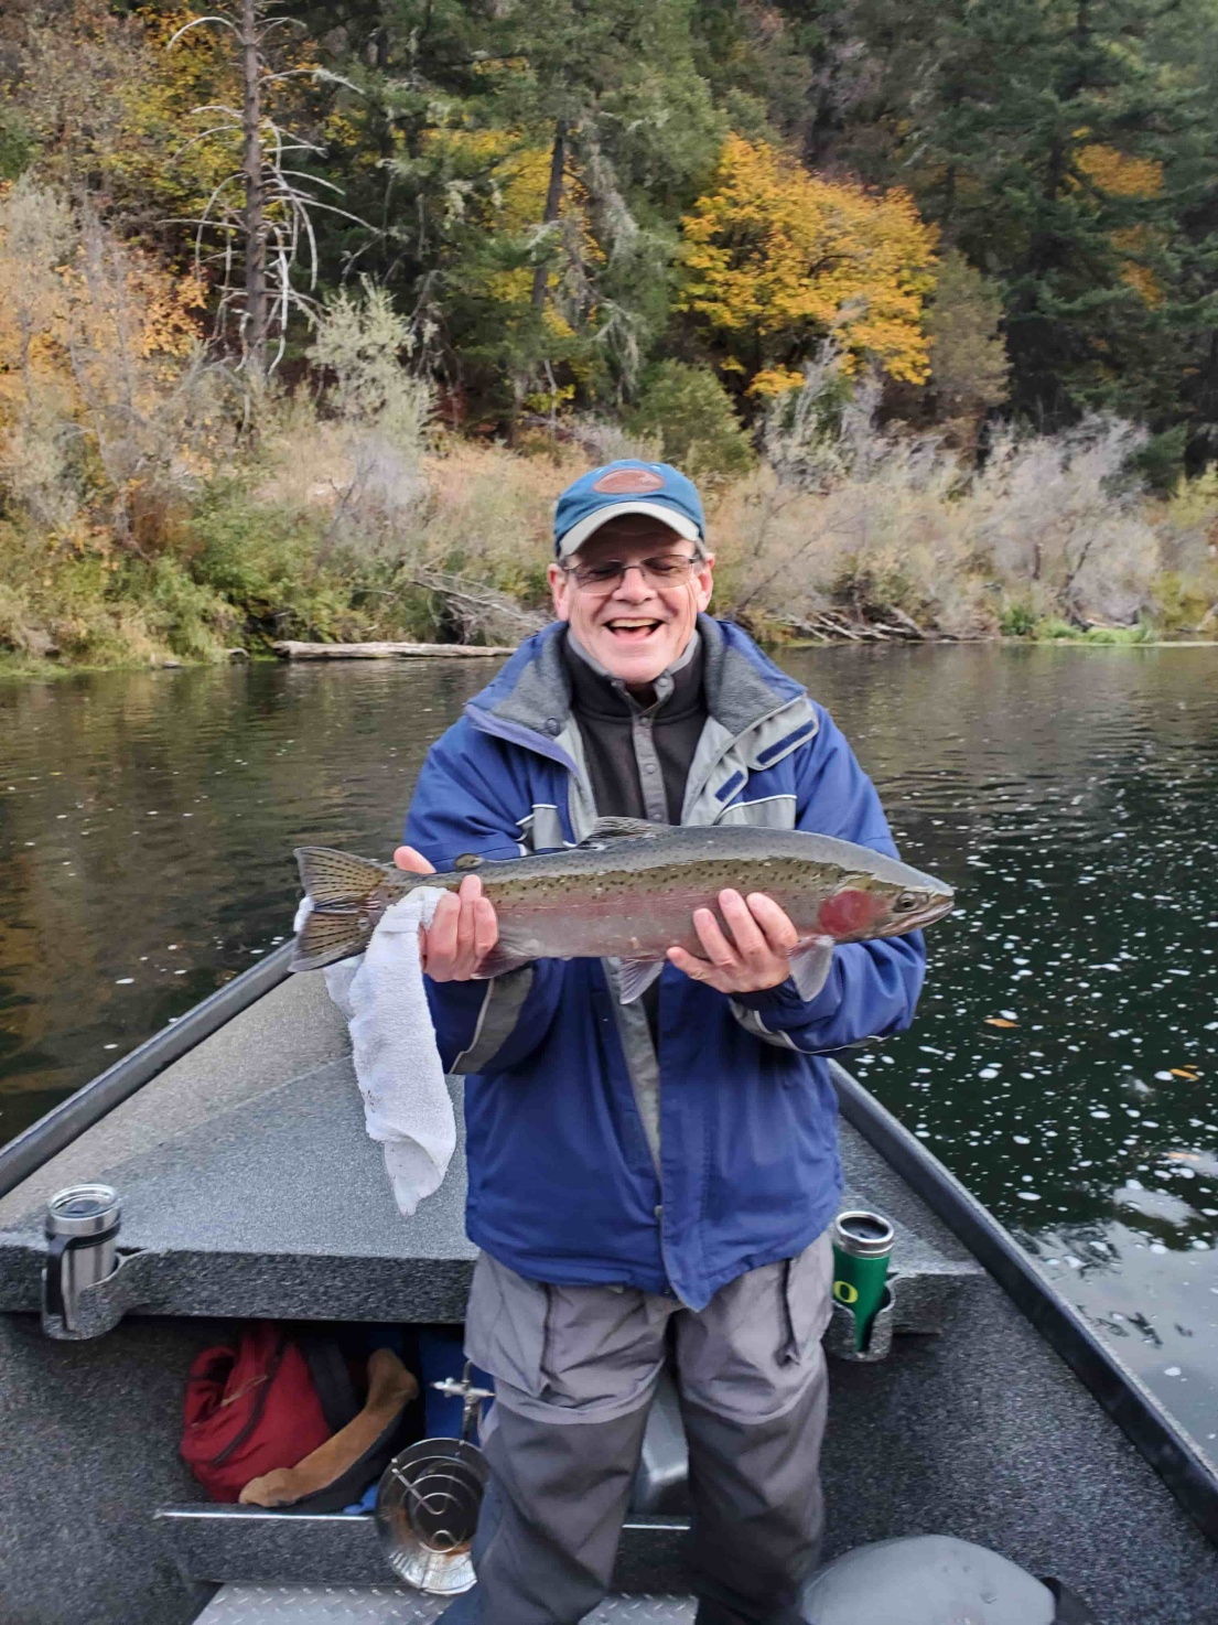
<svg viewBox="0 0 1218 1625">
<path fill-rule="evenodd" d="M 898 856 L 875 786 L 841 731 L 817 705 L 820 728 L 801 752 L 796 827 L 836 835 L 885 856 Z M 926 973 L 921 931 L 846 942 L 833 954 L 825 986 L 802 999 L 793 982 L 760 993 L 737 993 L 732 1011 L 755 1037 L 815 1055 L 864 1038 L 903 1032 L 913 1020 Z"/>
</svg>

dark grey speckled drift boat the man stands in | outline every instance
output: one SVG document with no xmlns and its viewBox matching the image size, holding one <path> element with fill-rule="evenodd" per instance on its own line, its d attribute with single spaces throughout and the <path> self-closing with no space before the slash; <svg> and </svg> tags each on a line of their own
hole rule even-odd
<svg viewBox="0 0 1218 1625">
<path fill-rule="evenodd" d="M 320 977 L 289 978 L 291 952 L 0 1150 L 2 1625 L 422 1625 L 445 1606 L 396 1584 L 370 1514 L 206 1503 L 177 1454 L 188 1367 L 234 1320 L 464 1311 L 476 1254 L 460 1155 L 403 1219 L 343 1020 Z M 950 1534 L 1056 1576 L 1099 1625 L 1218 1625 L 1218 1462 L 931 1152 L 833 1072 L 844 1206 L 893 1222 L 896 1279 L 887 1357 L 830 1362 L 825 1558 Z M 81 1183 L 119 1193 L 122 1228 L 112 1272 L 78 1284 L 70 1329 L 45 1216 Z M 594 1618 L 692 1618 L 685 1524 L 661 1391 L 615 1594 Z"/>
</svg>

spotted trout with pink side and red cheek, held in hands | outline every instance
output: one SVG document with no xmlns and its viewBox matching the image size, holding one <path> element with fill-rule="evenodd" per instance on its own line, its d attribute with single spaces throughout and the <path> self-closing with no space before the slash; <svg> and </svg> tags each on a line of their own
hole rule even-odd
<svg viewBox="0 0 1218 1625">
<path fill-rule="evenodd" d="M 609 959 L 622 1004 L 654 982 L 669 947 L 705 956 L 693 910 L 715 907 L 726 887 L 765 892 L 791 916 L 799 931 L 791 973 L 801 991 L 801 978 L 810 985 L 818 968 L 818 939 L 900 936 L 942 920 L 955 902 L 950 886 L 869 847 L 739 824 L 599 819 L 578 845 L 508 860 L 461 856 L 443 874 L 414 874 L 328 847 L 297 847 L 296 861 L 313 907 L 292 970 L 362 952 L 385 910 L 416 887 L 455 892 L 476 873 L 499 916 L 499 941 L 477 977 L 533 959 Z"/>
</svg>

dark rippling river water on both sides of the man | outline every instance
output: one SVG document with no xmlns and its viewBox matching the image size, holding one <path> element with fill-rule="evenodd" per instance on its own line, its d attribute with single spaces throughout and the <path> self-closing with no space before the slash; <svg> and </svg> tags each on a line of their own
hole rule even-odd
<svg viewBox="0 0 1218 1625">
<path fill-rule="evenodd" d="M 848 1064 L 1208 1450 L 1218 1430 L 1218 650 L 784 663 L 958 887 Z M 388 855 L 492 661 L 0 684 L 0 1141 L 289 930 L 299 843 Z"/>
</svg>

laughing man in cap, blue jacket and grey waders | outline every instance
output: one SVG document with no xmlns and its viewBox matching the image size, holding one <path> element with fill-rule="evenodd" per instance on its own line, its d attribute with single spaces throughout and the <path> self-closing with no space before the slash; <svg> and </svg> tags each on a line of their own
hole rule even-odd
<svg viewBox="0 0 1218 1625">
<path fill-rule="evenodd" d="M 432 748 L 401 868 L 510 856 L 596 817 L 767 824 L 893 853 L 828 715 L 708 618 L 695 488 L 663 463 L 577 479 L 555 510 L 557 621 Z M 833 949 L 791 980 L 762 894 L 698 910 L 648 993 L 538 960 L 473 980 L 497 939 L 476 874 L 424 942 L 445 1064 L 466 1074 L 466 1352 L 495 1376 L 477 1586 L 453 1620 L 567 1625 L 604 1594 L 656 1381 L 689 1440 L 700 1625 L 796 1620 L 820 1537 L 820 1336 L 841 1173 L 827 1050 L 905 1027 L 918 934 Z M 640 905 L 640 907 L 645 907 Z M 804 982 L 807 988 L 807 982 Z"/>
</svg>

